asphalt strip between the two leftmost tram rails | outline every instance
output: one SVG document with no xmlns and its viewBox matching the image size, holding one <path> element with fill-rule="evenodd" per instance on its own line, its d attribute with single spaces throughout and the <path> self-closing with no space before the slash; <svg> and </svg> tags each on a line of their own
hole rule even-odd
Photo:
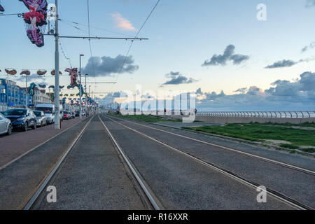
<svg viewBox="0 0 315 224">
<path fill-rule="evenodd" d="M 43 192 L 41 204 L 34 209 L 147 208 L 98 116 L 49 185 L 57 188 L 57 202 L 48 203 Z"/>
</svg>

